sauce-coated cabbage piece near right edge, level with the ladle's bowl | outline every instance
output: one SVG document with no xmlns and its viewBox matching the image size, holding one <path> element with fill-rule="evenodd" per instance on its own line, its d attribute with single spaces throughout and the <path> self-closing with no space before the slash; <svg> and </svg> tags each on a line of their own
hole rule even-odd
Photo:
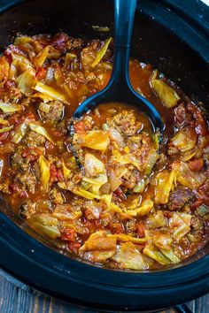
<svg viewBox="0 0 209 313">
<path fill-rule="evenodd" d="M 179 131 L 171 139 L 170 145 L 174 146 L 181 152 L 193 149 L 196 145 L 197 133 L 194 128 L 187 127 Z"/>
</svg>

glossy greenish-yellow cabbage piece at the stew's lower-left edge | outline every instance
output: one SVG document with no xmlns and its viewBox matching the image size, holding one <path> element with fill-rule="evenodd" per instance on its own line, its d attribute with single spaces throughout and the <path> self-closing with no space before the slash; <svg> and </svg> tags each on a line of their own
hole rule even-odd
<svg viewBox="0 0 209 313">
<path fill-rule="evenodd" d="M 58 230 L 58 218 L 51 217 L 50 214 L 35 214 L 27 220 L 37 233 L 41 233 L 51 239 L 61 236 Z"/>
</svg>

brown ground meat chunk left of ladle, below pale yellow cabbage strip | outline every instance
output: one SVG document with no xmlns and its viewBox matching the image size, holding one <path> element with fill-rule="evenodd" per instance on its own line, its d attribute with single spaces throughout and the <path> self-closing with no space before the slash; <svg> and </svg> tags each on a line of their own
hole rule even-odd
<svg viewBox="0 0 209 313">
<path fill-rule="evenodd" d="M 64 117 L 64 104 L 60 101 L 51 101 L 50 102 L 50 111 L 45 113 L 43 111 L 39 111 L 40 117 L 50 123 L 58 123 Z"/>
</svg>

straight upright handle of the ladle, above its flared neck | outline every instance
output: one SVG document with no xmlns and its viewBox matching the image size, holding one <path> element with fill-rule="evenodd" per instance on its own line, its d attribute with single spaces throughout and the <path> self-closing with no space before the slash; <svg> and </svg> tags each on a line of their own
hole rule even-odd
<svg viewBox="0 0 209 313">
<path fill-rule="evenodd" d="M 121 90 L 125 93 L 129 86 L 129 54 L 135 8 L 136 0 L 114 1 L 114 62 L 110 85 L 117 94 Z"/>
</svg>

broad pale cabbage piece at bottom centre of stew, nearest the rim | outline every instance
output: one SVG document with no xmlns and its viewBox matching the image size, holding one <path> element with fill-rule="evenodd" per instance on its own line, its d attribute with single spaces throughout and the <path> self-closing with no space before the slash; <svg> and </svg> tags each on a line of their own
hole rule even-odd
<svg viewBox="0 0 209 313">
<path fill-rule="evenodd" d="M 146 270 L 148 268 L 141 252 L 132 242 L 121 243 L 117 248 L 114 260 L 120 264 L 122 269 Z"/>
</svg>

